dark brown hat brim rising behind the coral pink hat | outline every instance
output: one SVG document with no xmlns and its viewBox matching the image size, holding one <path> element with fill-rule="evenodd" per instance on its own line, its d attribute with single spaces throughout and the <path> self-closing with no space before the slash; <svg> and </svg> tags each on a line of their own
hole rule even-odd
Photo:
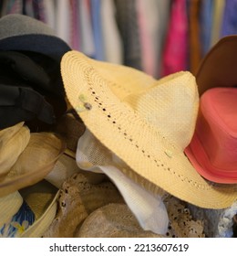
<svg viewBox="0 0 237 256">
<path fill-rule="evenodd" d="M 205 55 L 195 75 L 200 95 L 214 87 L 237 84 L 237 36 L 222 37 Z"/>
</svg>

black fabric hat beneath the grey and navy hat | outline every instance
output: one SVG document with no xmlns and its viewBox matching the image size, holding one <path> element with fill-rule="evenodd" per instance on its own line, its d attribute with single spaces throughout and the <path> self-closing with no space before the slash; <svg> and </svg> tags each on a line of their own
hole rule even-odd
<svg viewBox="0 0 237 256">
<path fill-rule="evenodd" d="M 24 121 L 41 131 L 56 123 L 67 110 L 58 80 L 23 53 L 0 51 L 0 129 Z"/>
</svg>

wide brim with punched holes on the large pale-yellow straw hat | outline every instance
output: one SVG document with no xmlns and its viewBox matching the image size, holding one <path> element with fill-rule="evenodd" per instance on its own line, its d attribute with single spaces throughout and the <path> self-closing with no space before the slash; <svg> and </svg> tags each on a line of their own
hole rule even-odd
<svg viewBox="0 0 237 256">
<path fill-rule="evenodd" d="M 139 112 L 134 112 L 116 96 L 119 90 L 129 91 L 129 83 L 136 84 L 138 90 L 150 85 L 159 89 L 162 82 L 173 86 L 172 80 L 168 81 L 172 76 L 157 81 L 139 70 L 89 59 L 77 51 L 64 55 L 61 73 L 68 101 L 90 132 L 128 165 L 121 170 L 127 176 L 154 194 L 160 193 L 161 187 L 201 208 L 232 205 L 237 186 L 214 184 L 202 178 L 184 155 L 184 148 L 171 146 L 173 152 L 170 152 L 171 143 L 160 135 L 159 127 L 153 130 L 152 125 L 141 121 L 143 117 Z M 193 80 L 183 82 L 187 83 L 185 93 L 191 97 Z M 160 111 L 162 109 L 157 110 L 157 114 Z M 170 123 L 172 118 L 170 116 Z M 195 123 L 192 125 L 194 132 Z"/>
</svg>

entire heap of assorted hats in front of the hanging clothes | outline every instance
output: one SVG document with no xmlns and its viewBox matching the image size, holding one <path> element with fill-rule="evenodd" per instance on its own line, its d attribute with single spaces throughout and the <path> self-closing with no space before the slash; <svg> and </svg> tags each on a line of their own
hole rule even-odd
<svg viewBox="0 0 237 256">
<path fill-rule="evenodd" d="M 231 237 L 236 41 L 155 80 L 3 16 L 0 236 Z"/>
</svg>

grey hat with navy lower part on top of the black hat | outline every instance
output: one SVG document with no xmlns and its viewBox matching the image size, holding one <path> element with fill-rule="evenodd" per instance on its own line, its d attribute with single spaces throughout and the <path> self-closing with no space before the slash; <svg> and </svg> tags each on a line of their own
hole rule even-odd
<svg viewBox="0 0 237 256">
<path fill-rule="evenodd" d="M 60 62 L 71 48 L 51 27 L 25 15 L 7 15 L 0 19 L 0 50 L 34 51 Z"/>
</svg>

